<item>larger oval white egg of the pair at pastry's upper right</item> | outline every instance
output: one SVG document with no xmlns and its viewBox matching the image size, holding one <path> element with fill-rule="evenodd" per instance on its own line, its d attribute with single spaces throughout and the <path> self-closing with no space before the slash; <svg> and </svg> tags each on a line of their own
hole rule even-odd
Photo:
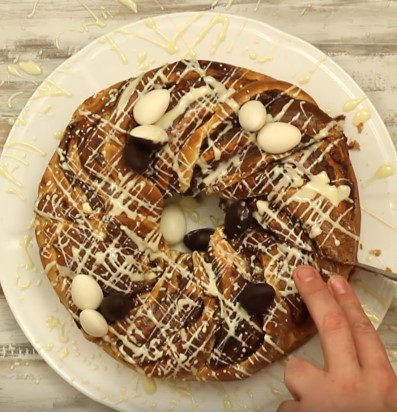
<svg viewBox="0 0 397 412">
<path fill-rule="evenodd" d="M 280 154 L 297 146 L 302 139 L 300 130 L 289 123 L 268 123 L 259 130 L 258 146 L 267 153 Z"/>
</svg>

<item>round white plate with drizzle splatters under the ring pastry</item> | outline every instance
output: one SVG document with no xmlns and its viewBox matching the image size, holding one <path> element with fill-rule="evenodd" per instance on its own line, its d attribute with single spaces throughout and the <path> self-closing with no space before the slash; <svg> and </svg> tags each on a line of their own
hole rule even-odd
<svg viewBox="0 0 397 412">
<path fill-rule="evenodd" d="M 66 61 L 38 87 L 14 126 L 0 163 L 0 261 L 2 286 L 11 309 L 34 347 L 65 380 L 95 400 L 123 411 L 148 409 L 272 411 L 289 397 L 278 362 L 249 380 L 234 383 L 152 381 L 102 353 L 86 341 L 59 303 L 43 274 L 32 238 L 33 203 L 38 182 L 58 145 L 56 137 L 74 109 L 94 92 L 141 70 L 197 56 L 265 72 L 293 83 L 332 115 L 343 112 L 363 91 L 334 62 L 313 46 L 261 22 L 210 13 L 175 14 L 133 23 L 103 36 Z M 352 119 L 367 109 L 371 118 L 361 134 Z M 346 113 L 346 133 L 359 141 L 352 153 L 359 181 L 397 158 L 391 139 L 372 104 L 364 99 Z M 364 209 L 360 259 L 382 250 L 373 261 L 397 268 L 397 176 L 361 190 Z M 394 212 L 393 212 L 394 208 Z M 369 212 L 369 213 L 368 213 Z M 394 230 L 393 230 L 394 227 Z M 353 279 L 376 325 L 394 290 L 375 277 Z M 298 351 L 317 363 L 317 339 Z"/>
</svg>

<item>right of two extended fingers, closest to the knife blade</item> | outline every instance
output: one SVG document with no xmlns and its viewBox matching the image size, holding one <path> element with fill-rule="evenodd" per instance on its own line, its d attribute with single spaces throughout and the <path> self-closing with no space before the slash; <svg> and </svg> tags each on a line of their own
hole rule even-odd
<svg viewBox="0 0 397 412">
<path fill-rule="evenodd" d="M 335 275 L 328 284 L 350 325 L 360 365 L 391 368 L 383 343 L 348 281 Z"/>
</svg>

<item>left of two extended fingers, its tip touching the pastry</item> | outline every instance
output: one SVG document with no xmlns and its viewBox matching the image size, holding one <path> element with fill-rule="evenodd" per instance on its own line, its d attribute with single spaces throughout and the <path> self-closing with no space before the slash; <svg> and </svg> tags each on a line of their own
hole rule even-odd
<svg viewBox="0 0 397 412">
<path fill-rule="evenodd" d="M 357 372 L 359 363 L 349 323 L 327 284 L 311 266 L 298 267 L 294 280 L 317 326 L 325 369 Z"/>
</svg>

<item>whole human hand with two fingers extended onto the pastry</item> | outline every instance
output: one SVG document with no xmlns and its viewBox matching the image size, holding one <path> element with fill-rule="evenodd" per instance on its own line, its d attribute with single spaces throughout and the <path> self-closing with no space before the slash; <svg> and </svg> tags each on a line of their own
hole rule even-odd
<svg viewBox="0 0 397 412">
<path fill-rule="evenodd" d="M 294 400 L 277 411 L 397 411 L 397 377 L 347 280 L 335 275 L 325 283 L 310 266 L 297 268 L 294 280 L 317 326 L 325 363 L 320 369 L 289 360 L 284 380 Z"/>
</svg>

